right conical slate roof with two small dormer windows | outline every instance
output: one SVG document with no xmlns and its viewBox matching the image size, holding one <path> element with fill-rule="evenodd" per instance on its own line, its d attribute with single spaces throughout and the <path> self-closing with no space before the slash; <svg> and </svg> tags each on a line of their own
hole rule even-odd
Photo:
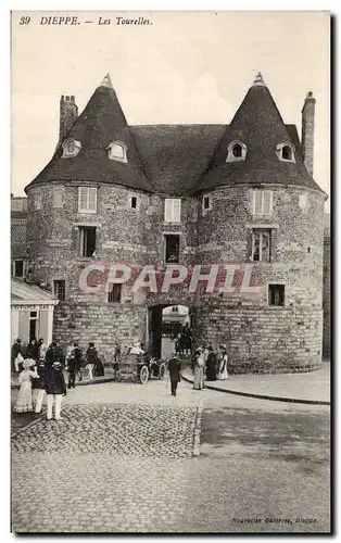
<svg viewBox="0 0 341 543">
<path fill-rule="evenodd" d="M 247 155 L 227 162 L 228 147 L 233 141 L 245 146 Z M 280 143 L 293 146 L 294 162 L 279 160 L 276 148 Z M 321 191 L 305 168 L 296 128 L 283 123 L 260 72 L 194 191 L 239 184 L 296 185 Z"/>
</svg>

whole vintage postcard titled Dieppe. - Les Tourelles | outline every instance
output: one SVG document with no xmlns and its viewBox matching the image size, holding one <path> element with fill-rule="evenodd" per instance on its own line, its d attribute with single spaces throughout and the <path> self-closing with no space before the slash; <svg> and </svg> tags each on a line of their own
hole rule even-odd
<svg viewBox="0 0 341 543">
<path fill-rule="evenodd" d="M 11 27 L 11 530 L 330 533 L 330 14 Z"/>
</svg>

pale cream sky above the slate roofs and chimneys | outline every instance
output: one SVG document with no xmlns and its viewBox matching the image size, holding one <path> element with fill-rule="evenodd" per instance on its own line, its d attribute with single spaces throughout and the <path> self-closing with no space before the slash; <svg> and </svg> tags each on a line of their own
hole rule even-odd
<svg viewBox="0 0 341 543">
<path fill-rule="evenodd" d="M 18 25 L 23 14 L 12 23 L 15 195 L 54 152 L 61 94 L 75 94 L 81 112 L 109 72 L 129 124 L 229 123 L 258 71 L 300 135 L 304 98 L 314 92 L 314 177 L 329 194 L 329 13 L 66 13 L 78 15 L 77 26 L 40 25 L 46 12 L 26 13 L 29 25 Z M 100 15 L 112 24 L 99 26 Z M 117 26 L 117 15 L 152 25 Z"/>
</svg>

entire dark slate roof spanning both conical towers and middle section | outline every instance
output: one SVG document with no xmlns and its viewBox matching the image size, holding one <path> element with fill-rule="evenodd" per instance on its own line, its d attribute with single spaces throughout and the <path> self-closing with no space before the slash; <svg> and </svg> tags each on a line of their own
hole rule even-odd
<svg viewBox="0 0 341 543">
<path fill-rule="evenodd" d="M 53 180 L 98 181 L 186 195 L 237 184 L 296 185 L 321 191 L 307 173 L 295 125 L 286 125 L 258 75 L 230 125 L 128 126 L 109 76 L 67 134 L 81 142 L 77 156 L 59 148 L 28 186 Z M 248 148 L 243 162 L 226 163 L 228 144 Z M 128 147 L 128 164 L 109 160 L 110 142 Z M 279 161 L 276 146 L 291 141 L 296 163 Z"/>
</svg>

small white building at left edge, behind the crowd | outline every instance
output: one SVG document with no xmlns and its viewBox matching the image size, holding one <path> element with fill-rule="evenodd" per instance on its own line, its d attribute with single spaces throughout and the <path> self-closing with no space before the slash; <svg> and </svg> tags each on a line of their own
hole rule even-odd
<svg viewBox="0 0 341 543">
<path fill-rule="evenodd" d="M 25 346 L 30 338 L 52 341 L 53 311 L 59 303 L 52 294 L 20 279 L 11 279 L 11 339 Z"/>
</svg>

